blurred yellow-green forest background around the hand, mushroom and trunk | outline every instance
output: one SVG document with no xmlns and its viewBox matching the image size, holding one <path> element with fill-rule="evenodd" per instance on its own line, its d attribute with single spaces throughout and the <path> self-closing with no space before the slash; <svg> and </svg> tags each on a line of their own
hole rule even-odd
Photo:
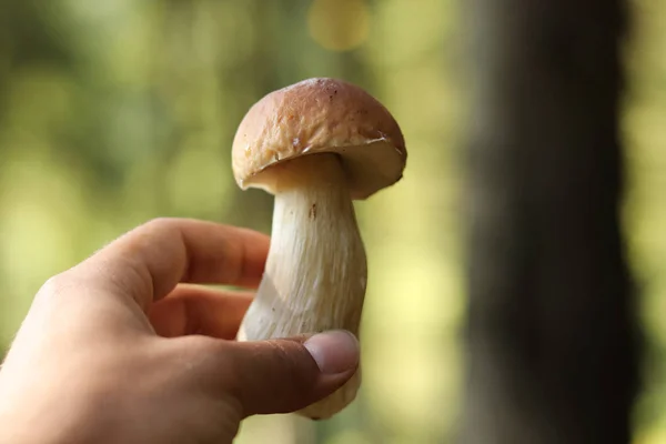
<svg viewBox="0 0 666 444">
<path fill-rule="evenodd" d="M 329 422 L 254 417 L 238 442 L 452 442 L 464 395 L 464 2 L 0 0 L 0 347 L 39 286 L 124 231 L 188 216 L 270 231 L 231 141 L 271 90 L 337 77 L 401 123 L 404 180 L 356 205 L 370 264 L 364 383 Z M 635 444 L 666 443 L 666 3 L 625 50 L 624 229 L 647 339 Z"/>
</svg>

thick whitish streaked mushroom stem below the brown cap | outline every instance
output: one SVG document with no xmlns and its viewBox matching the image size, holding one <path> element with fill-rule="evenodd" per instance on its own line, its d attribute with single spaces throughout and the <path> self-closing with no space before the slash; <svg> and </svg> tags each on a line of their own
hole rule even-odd
<svg viewBox="0 0 666 444">
<path fill-rule="evenodd" d="M 273 167 L 271 249 L 240 341 L 345 329 L 359 334 L 367 265 L 342 164 L 311 154 Z M 360 371 L 335 393 L 299 412 L 326 418 L 356 396 Z"/>
</svg>

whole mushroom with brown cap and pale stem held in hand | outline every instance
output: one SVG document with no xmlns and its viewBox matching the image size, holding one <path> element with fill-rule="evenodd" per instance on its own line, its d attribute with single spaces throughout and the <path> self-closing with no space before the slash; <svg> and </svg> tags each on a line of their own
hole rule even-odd
<svg viewBox="0 0 666 444">
<path fill-rule="evenodd" d="M 243 190 L 274 194 L 270 252 L 239 341 L 344 329 L 359 335 L 367 265 L 353 200 L 402 178 L 405 142 L 391 113 L 361 88 L 309 79 L 265 95 L 232 148 Z M 329 418 L 356 396 L 360 369 L 299 414 Z"/>
</svg>

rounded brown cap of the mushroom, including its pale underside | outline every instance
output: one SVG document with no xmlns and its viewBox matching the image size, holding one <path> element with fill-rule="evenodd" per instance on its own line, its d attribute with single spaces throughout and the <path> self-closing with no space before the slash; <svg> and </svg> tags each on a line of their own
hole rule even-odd
<svg viewBox="0 0 666 444">
<path fill-rule="evenodd" d="M 243 190 L 274 193 L 271 167 L 315 153 L 340 155 L 352 199 L 397 182 L 407 158 L 397 122 L 376 99 L 341 80 L 309 79 L 248 111 L 233 141 L 233 174 Z"/>
</svg>

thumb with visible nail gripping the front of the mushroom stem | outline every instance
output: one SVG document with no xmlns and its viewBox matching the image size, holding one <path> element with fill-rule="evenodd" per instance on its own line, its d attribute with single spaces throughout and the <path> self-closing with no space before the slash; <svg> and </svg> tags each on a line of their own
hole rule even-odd
<svg viewBox="0 0 666 444">
<path fill-rule="evenodd" d="M 346 331 L 311 337 L 232 343 L 232 393 L 243 415 L 289 413 L 340 389 L 359 366 L 359 341 Z"/>
</svg>

